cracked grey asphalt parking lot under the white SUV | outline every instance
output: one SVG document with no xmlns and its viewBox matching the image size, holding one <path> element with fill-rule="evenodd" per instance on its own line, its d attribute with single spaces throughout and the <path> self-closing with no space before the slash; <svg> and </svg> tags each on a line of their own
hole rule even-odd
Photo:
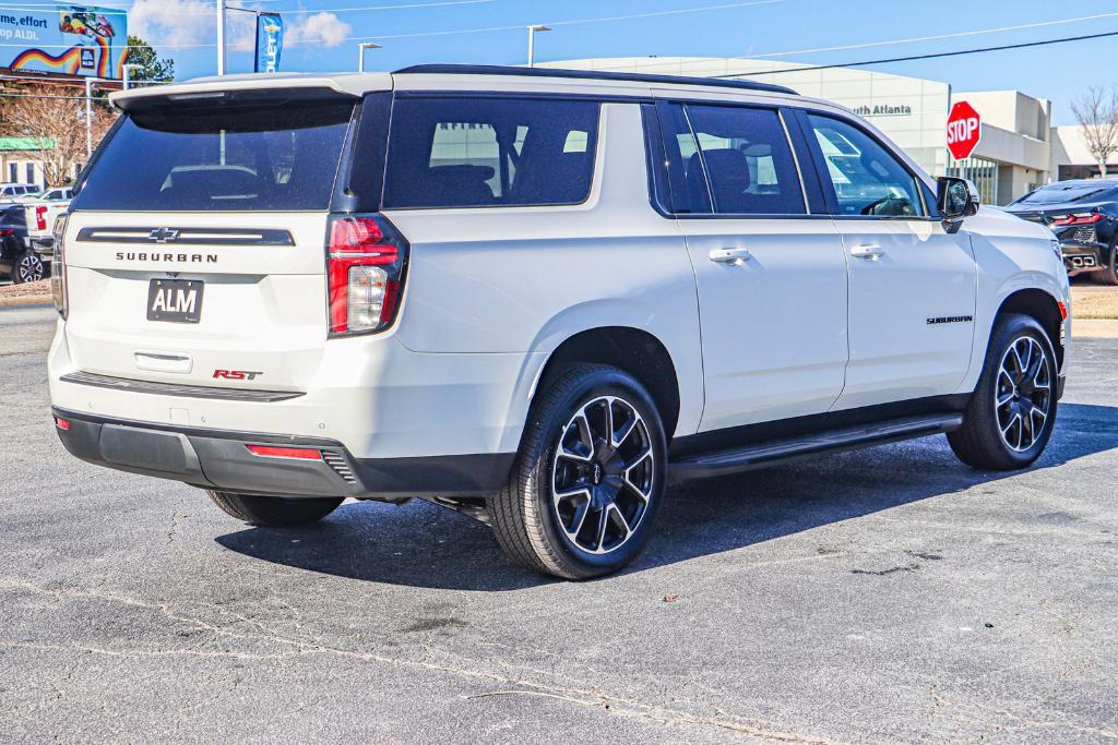
<svg viewBox="0 0 1118 745">
<path fill-rule="evenodd" d="M 673 489 L 567 584 L 423 503 L 307 529 L 82 464 L 0 309 L 0 741 L 1110 742 L 1118 340 L 1022 474 L 942 438 Z"/>
</svg>

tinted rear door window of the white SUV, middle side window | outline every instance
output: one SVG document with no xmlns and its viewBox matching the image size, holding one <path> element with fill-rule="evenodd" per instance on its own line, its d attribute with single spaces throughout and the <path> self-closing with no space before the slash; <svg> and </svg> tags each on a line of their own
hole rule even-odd
<svg viewBox="0 0 1118 745">
<path fill-rule="evenodd" d="M 788 136 L 775 111 L 688 106 L 686 112 L 701 151 L 689 156 L 688 173 L 705 166 L 716 212 L 806 212 Z"/>
</svg>

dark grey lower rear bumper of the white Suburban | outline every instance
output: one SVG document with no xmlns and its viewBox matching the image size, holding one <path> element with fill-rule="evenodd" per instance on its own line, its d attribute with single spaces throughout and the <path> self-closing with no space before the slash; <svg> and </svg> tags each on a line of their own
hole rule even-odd
<svg viewBox="0 0 1118 745">
<path fill-rule="evenodd" d="M 354 458 L 341 443 L 320 438 L 283 437 L 169 427 L 110 419 L 54 408 L 56 427 L 70 455 L 91 464 L 133 474 L 183 481 L 240 494 L 356 497 L 476 496 L 499 490 L 514 453 Z M 318 450 L 321 459 L 272 458 L 249 445 L 282 445 Z"/>
</svg>

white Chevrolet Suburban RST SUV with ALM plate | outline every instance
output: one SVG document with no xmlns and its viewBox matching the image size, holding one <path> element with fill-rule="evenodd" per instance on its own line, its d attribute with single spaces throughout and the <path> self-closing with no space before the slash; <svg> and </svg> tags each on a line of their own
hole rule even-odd
<svg viewBox="0 0 1118 745">
<path fill-rule="evenodd" d="M 248 523 L 418 497 L 589 577 L 671 479 L 1052 434 L 1052 233 L 826 102 L 461 66 L 112 99 L 58 225 L 55 426 Z"/>
</svg>

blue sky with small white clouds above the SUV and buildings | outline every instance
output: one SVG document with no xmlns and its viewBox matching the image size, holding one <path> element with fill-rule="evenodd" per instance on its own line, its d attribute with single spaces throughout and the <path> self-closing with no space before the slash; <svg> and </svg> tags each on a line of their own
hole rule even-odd
<svg viewBox="0 0 1118 745">
<path fill-rule="evenodd" d="M 356 37 L 383 45 L 382 49 L 369 52 L 370 69 L 394 69 L 433 61 L 523 64 L 527 58 L 527 32 L 523 27 L 528 23 L 556 25 L 553 31 L 537 37 L 539 60 L 644 55 L 768 55 L 1103 13 L 1115 16 L 946 40 L 797 54 L 781 59 L 834 64 L 1118 31 L 1118 1 L 1086 0 L 1060 3 L 1051 0 L 969 3 L 932 0 L 767 0 L 766 4 L 752 6 L 743 6 L 741 0 L 472 0 L 463 4 L 399 7 L 438 1 L 247 0 L 243 4 L 300 11 L 286 17 L 292 30 L 288 37 L 291 44 L 283 59 L 283 69 L 300 71 L 354 69 Z M 229 2 L 236 4 L 237 0 Z M 341 10 L 370 6 L 396 7 L 361 12 Z M 132 8 L 132 30 L 146 36 L 162 54 L 173 57 L 180 78 L 214 73 L 215 50 L 190 46 L 212 44 L 212 0 L 135 0 Z M 563 21 L 701 8 L 707 10 L 560 25 Z M 247 13 L 230 12 L 230 23 L 235 25 L 231 34 L 245 38 L 249 18 Z M 433 35 L 494 27 L 515 28 Z M 1021 89 L 1051 98 L 1055 104 L 1055 122 L 1069 124 L 1072 123 L 1068 105 L 1071 98 L 1080 95 L 1088 85 L 1109 84 L 1118 79 L 1111 64 L 1100 63 L 1118 57 L 1115 52 L 1118 52 L 1118 37 L 880 65 L 871 69 L 942 80 L 957 90 Z M 250 66 L 248 51 L 230 51 L 229 71 L 249 71 Z"/>
</svg>

